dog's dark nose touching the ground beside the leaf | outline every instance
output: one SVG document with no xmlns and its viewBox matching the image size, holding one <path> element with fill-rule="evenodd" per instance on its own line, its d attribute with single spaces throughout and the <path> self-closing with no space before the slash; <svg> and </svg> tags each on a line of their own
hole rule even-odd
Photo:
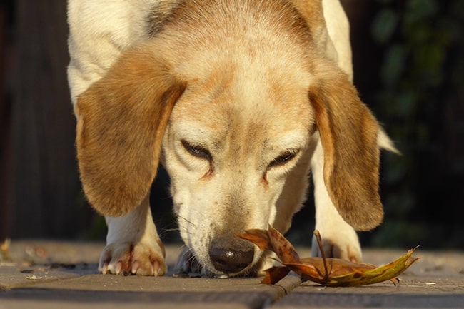
<svg viewBox="0 0 464 309">
<path fill-rule="evenodd" d="M 253 262 L 253 248 L 218 248 L 211 246 L 209 258 L 216 270 L 223 273 L 239 273 Z"/>
</svg>

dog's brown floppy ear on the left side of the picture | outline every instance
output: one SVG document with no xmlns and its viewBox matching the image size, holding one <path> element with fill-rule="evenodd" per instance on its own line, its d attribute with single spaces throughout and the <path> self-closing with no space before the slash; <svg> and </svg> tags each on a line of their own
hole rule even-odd
<svg viewBox="0 0 464 309">
<path fill-rule="evenodd" d="M 161 141 L 186 88 L 148 46 L 128 51 L 78 98 L 76 147 L 84 192 L 105 216 L 122 216 L 146 197 Z"/>
</svg>

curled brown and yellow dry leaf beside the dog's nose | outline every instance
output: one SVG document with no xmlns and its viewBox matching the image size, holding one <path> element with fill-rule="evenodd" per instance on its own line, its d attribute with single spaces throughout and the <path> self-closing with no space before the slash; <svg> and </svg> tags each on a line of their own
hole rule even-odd
<svg viewBox="0 0 464 309">
<path fill-rule="evenodd" d="M 321 235 L 314 232 L 318 240 L 322 258 L 299 258 L 293 245 L 275 228 L 266 230 L 247 230 L 238 237 L 254 243 L 261 250 L 271 250 L 280 259 L 283 266 L 266 270 L 266 277 L 261 283 L 275 284 L 291 270 L 301 276 L 302 280 L 310 280 L 325 286 L 358 286 L 380 283 L 390 280 L 397 283 L 396 278 L 418 258 L 413 258 L 415 247 L 408 253 L 383 266 L 365 263 L 353 263 L 340 258 L 326 258 L 322 248 Z"/>
</svg>

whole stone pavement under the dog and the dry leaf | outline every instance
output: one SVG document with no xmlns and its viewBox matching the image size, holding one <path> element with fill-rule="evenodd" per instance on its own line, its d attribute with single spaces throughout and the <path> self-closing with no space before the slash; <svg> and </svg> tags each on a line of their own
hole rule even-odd
<svg viewBox="0 0 464 309">
<path fill-rule="evenodd" d="M 288 275 L 277 285 L 259 278 L 161 278 L 96 273 L 103 243 L 12 241 L 0 259 L 0 309 L 62 308 L 464 308 L 464 253 L 418 250 L 420 260 L 390 282 L 323 288 Z M 173 265 L 180 245 L 166 249 Z M 382 265 L 406 250 L 365 250 Z M 309 250 L 299 251 L 308 256 Z"/>
</svg>

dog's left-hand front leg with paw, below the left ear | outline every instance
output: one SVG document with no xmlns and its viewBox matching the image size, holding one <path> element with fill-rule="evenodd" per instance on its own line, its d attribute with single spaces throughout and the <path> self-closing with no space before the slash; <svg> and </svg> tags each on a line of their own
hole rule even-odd
<svg viewBox="0 0 464 309">
<path fill-rule="evenodd" d="M 164 246 L 151 217 L 148 196 L 130 213 L 105 217 L 106 247 L 101 253 L 101 273 L 164 275 Z"/>
</svg>

